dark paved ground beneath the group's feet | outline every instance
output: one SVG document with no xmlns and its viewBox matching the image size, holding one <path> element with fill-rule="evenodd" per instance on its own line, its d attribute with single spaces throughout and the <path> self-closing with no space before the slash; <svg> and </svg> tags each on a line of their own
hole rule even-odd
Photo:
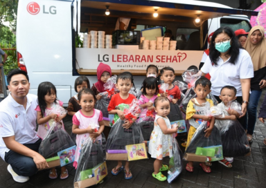
<svg viewBox="0 0 266 188">
<path fill-rule="evenodd" d="M 260 97 L 259 106 L 263 101 L 265 93 L 264 91 L 262 97 Z M 71 123 L 71 118 L 67 116 L 64 119 L 64 124 L 68 131 L 71 130 Z M 204 173 L 199 168 L 199 163 L 195 163 L 195 171 L 193 173 L 188 173 L 184 169 L 179 178 L 172 182 L 172 184 L 159 182 L 152 178 L 152 165 L 154 161 L 152 158 L 130 162 L 133 173 L 131 180 L 125 180 L 123 173 L 118 176 L 112 176 L 110 171 L 116 165 L 116 162 L 107 161 L 109 175 L 105 178 L 103 184 L 94 187 L 266 187 L 266 147 L 263 145 L 265 137 L 266 125 L 257 122 L 254 142 L 251 144 L 251 156 L 235 158 L 233 168 L 231 169 L 222 166 L 218 162 L 213 162 L 210 174 Z M 165 163 L 168 163 L 168 160 L 166 158 Z M 185 167 L 186 162 L 184 161 L 183 164 Z M 76 173 L 72 164 L 69 164 L 67 166 L 69 170 L 69 178 L 67 180 L 60 180 L 60 178 L 51 180 L 48 178 L 48 170 L 44 170 L 39 171 L 26 183 L 17 183 L 6 170 L 7 166 L 8 164 L 0 159 L 0 187 L 73 187 L 73 179 Z M 57 173 L 60 175 L 60 168 L 57 168 Z"/>
</svg>

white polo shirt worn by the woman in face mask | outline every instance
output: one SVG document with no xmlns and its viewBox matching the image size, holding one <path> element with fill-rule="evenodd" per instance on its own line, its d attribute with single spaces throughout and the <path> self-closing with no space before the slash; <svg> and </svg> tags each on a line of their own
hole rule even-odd
<svg viewBox="0 0 266 188">
<path fill-rule="evenodd" d="M 254 69 L 249 53 L 240 49 L 236 64 L 231 64 L 229 58 L 226 62 L 218 57 L 217 66 L 212 65 L 211 59 L 208 56 L 202 73 L 210 73 L 211 75 L 211 93 L 219 96 L 223 86 L 234 86 L 236 88 L 236 96 L 242 96 L 240 79 L 254 77 Z"/>
</svg>

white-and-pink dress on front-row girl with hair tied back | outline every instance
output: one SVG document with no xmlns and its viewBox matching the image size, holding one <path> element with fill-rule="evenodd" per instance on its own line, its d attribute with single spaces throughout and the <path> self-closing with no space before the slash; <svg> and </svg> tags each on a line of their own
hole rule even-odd
<svg viewBox="0 0 266 188">
<path fill-rule="evenodd" d="M 79 129 L 87 129 L 88 126 L 91 126 L 93 129 L 99 129 L 99 122 L 103 120 L 103 113 L 97 109 L 94 109 L 94 114 L 91 116 L 84 115 L 81 111 L 78 111 L 73 115 L 73 124 L 78 125 Z M 73 166 L 76 167 L 78 163 L 78 158 L 80 157 L 80 151 L 82 149 L 83 144 L 85 144 L 85 140 L 89 138 L 89 133 L 85 134 L 77 134 L 76 138 L 76 155 L 75 155 L 75 161 L 73 163 Z M 99 135 L 96 138 L 96 141 L 100 143 L 102 140 L 102 135 Z"/>
</svg>

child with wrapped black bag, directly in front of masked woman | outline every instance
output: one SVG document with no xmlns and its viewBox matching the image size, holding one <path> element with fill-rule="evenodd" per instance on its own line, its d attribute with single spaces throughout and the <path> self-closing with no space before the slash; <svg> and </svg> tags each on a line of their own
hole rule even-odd
<svg viewBox="0 0 266 188">
<path fill-rule="evenodd" d="M 239 116 L 242 114 L 241 105 L 236 100 L 236 88 L 224 86 L 220 92 L 222 102 L 217 108 L 224 113 L 224 118 L 215 118 L 215 126 L 220 129 L 224 159 L 219 162 L 225 167 L 232 167 L 233 157 L 245 156 L 250 151 L 247 134 L 243 129 Z"/>
</svg>

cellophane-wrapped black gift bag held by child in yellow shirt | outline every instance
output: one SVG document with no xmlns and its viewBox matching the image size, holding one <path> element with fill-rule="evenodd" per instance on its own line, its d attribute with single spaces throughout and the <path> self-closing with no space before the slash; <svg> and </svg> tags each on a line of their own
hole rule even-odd
<svg viewBox="0 0 266 188">
<path fill-rule="evenodd" d="M 217 108 L 217 106 L 213 106 L 209 109 L 208 105 L 202 105 L 202 111 L 204 112 L 204 115 L 206 116 L 212 116 L 212 117 L 219 117 L 223 118 L 222 110 Z M 211 131 L 211 135 L 209 135 L 209 138 L 204 137 L 206 134 L 204 131 L 208 129 L 209 122 L 202 121 L 198 122 L 199 127 L 197 127 L 197 131 L 195 131 L 193 138 L 190 140 L 190 143 L 188 147 L 186 148 L 186 153 L 196 153 L 197 147 L 201 148 L 208 148 L 208 149 L 215 149 L 215 156 L 206 156 L 206 160 L 208 161 L 217 161 L 222 160 L 222 138 L 220 135 L 220 131 L 216 126 L 213 126 L 213 130 Z M 196 153 L 197 154 L 197 153 Z M 194 160 L 197 161 L 197 160 Z M 199 160 L 199 162 L 202 162 Z"/>
</svg>

